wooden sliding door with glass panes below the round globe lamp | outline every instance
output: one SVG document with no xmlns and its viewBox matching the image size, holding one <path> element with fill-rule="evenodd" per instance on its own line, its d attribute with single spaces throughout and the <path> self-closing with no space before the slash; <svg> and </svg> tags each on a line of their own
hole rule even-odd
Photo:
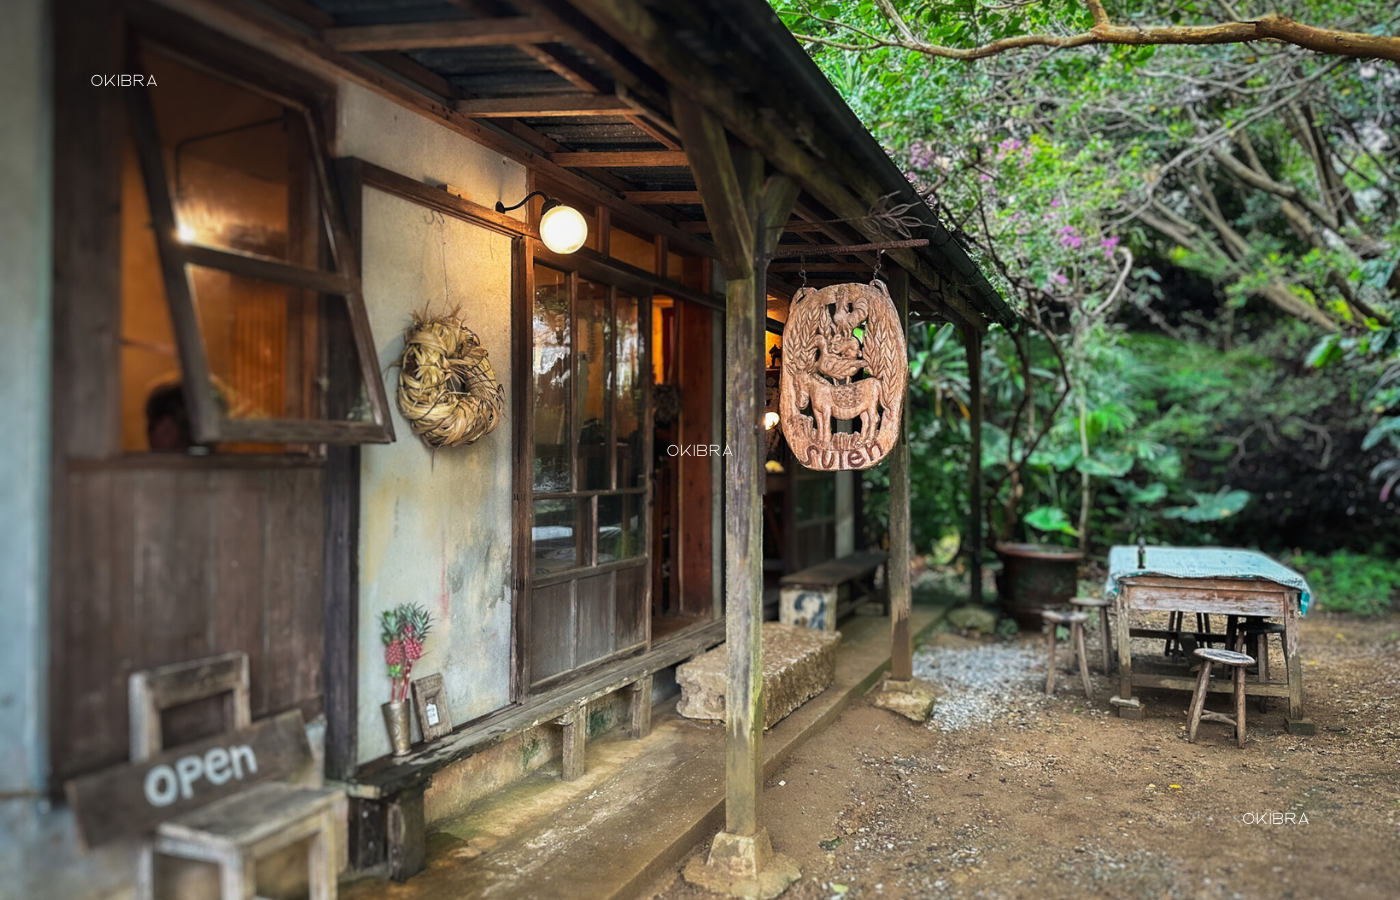
<svg viewBox="0 0 1400 900">
<path fill-rule="evenodd" d="M 601 266 L 531 276 L 525 693 L 647 647 L 652 467 L 650 291 Z"/>
</svg>

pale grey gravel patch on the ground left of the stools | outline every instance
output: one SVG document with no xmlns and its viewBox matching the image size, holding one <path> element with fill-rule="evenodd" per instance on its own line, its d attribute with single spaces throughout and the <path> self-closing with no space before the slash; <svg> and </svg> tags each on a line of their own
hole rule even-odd
<svg viewBox="0 0 1400 900">
<path fill-rule="evenodd" d="M 1026 647 L 925 647 L 914 654 L 914 676 L 938 686 L 930 725 L 963 731 L 1042 708 L 1044 654 Z"/>
</svg>

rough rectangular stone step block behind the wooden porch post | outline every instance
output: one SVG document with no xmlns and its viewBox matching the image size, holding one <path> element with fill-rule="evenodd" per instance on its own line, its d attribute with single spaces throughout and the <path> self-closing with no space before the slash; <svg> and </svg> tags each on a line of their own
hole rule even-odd
<svg viewBox="0 0 1400 900">
<path fill-rule="evenodd" d="M 839 631 L 816 631 L 780 621 L 763 623 L 763 728 L 773 728 L 790 712 L 836 680 Z M 680 703 L 676 711 L 694 719 L 724 719 L 728 644 L 676 668 Z"/>
</svg>

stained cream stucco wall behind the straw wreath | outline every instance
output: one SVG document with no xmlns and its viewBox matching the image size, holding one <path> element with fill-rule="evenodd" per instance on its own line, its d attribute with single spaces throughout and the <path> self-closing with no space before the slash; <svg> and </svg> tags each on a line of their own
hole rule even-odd
<svg viewBox="0 0 1400 900">
<path fill-rule="evenodd" d="M 483 204 L 525 195 L 522 167 L 358 88 L 342 97 L 342 154 L 451 183 Z M 398 603 L 433 613 L 413 675 L 442 673 L 454 722 L 508 701 L 512 460 L 510 239 L 374 189 L 363 204 L 365 304 L 389 396 L 403 329 L 423 309 L 461 307 L 507 386 L 507 416 L 470 447 L 434 453 L 395 409 L 398 441 L 363 451 L 358 759 L 365 761 L 389 750 L 379 712 L 389 696 L 379 613 Z"/>
</svg>

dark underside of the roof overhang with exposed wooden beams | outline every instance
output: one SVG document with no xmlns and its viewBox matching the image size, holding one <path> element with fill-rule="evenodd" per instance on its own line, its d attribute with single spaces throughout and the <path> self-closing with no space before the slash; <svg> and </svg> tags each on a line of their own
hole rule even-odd
<svg viewBox="0 0 1400 900">
<path fill-rule="evenodd" d="M 300 48 L 340 74 L 521 161 L 615 218 L 659 234 L 673 248 L 713 256 L 715 248 L 701 237 L 707 225 L 693 220 L 696 193 L 676 181 L 685 176 L 687 160 L 669 94 L 680 91 L 713 109 L 734 137 L 798 183 L 804 196 L 787 232 L 829 244 L 889 241 L 900 235 L 861 217 L 882 197 L 913 202 L 910 211 L 924 221 L 916 237 L 931 246 L 889 251 L 885 265 L 913 276 L 914 301 L 979 332 L 988 322 L 1012 321 L 966 252 L 764 3 L 706 0 L 654 8 L 640 0 L 514 0 L 514 14 L 501 15 L 508 7 L 452 0 L 472 18 L 371 25 L 340 24 L 305 0 L 270 0 L 281 15 L 251 1 L 230 7 L 190 0 L 188 6 L 210 17 L 232 15 L 241 29 L 252 25 L 279 43 Z M 577 92 L 476 97 L 402 52 L 497 45 L 525 52 Z M 571 53 L 589 64 L 581 66 Z M 707 62 L 720 57 L 722 66 Z M 634 125 L 658 148 L 564 146 L 538 125 L 612 115 Z M 644 183 L 650 171 L 664 169 L 682 174 Z M 841 258 L 813 259 L 820 269 L 809 265 L 808 270 L 868 273 L 876 265 L 874 253 L 844 258 L 850 260 L 846 270 Z M 773 284 L 791 293 L 792 283 L 783 274 L 776 270 Z"/>
</svg>

